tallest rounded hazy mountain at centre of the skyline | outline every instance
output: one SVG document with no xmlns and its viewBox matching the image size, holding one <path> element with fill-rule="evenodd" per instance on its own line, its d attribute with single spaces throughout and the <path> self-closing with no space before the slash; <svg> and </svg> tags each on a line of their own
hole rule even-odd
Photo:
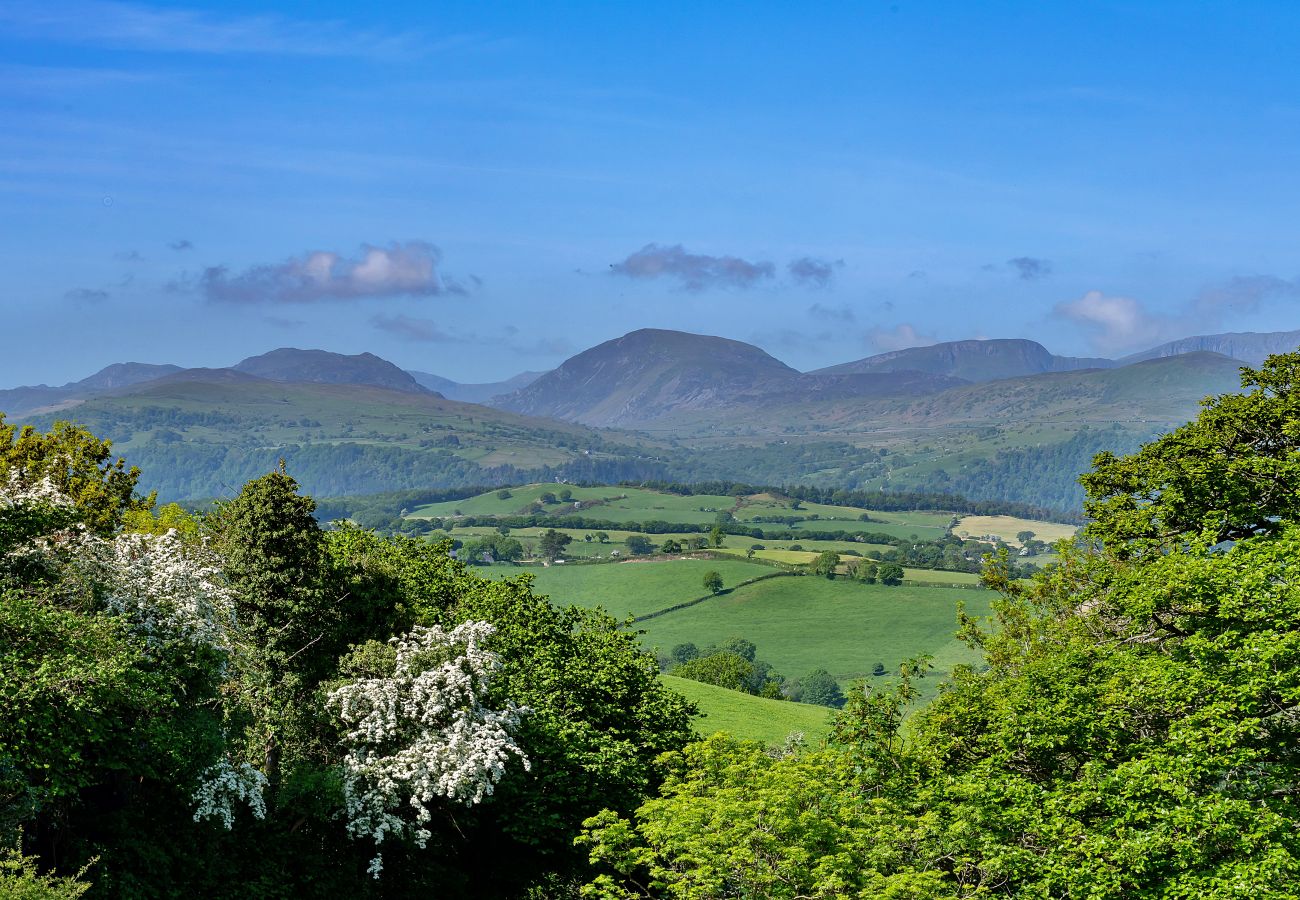
<svg viewBox="0 0 1300 900">
<path fill-rule="evenodd" d="M 567 359 L 497 406 L 586 425 L 637 425 L 679 410 L 789 390 L 801 375 L 758 347 L 654 328 Z"/>
</svg>

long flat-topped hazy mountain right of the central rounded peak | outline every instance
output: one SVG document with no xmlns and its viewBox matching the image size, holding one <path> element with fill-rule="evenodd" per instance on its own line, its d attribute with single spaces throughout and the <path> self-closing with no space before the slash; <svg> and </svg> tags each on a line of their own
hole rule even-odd
<svg viewBox="0 0 1300 900">
<path fill-rule="evenodd" d="M 998 338 L 992 341 L 948 341 L 928 347 L 909 347 L 876 354 L 852 363 L 829 365 L 810 375 L 850 375 L 864 372 L 926 372 L 966 381 L 996 381 L 1043 372 L 1071 372 L 1112 368 L 1112 359 L 1057 356 L 1036 341 Z"/>
</svg>

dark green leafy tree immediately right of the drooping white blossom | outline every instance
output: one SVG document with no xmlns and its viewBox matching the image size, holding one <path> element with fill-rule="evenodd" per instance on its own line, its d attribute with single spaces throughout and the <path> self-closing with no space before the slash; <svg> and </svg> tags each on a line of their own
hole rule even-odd
<svg viewBox="0 0 1300 900">
<path fill-rule="evenodd" d="M 447 564 L 459 593 L 451 616 L 497 626 L 495 700 L 529 709 L 520 743 L 533 770 L 510 773 L 482 821 L 512 840 L 516 877 L 580 867 L 572 840 L 581 822 L 606 808 L 632 810 L 654 789 L 655 760 L 692 737 L 694 708 L 664 688 L 654 657 L 604 613 L 552 606 L 526 575 L 486 581 Z"/>
</svg>

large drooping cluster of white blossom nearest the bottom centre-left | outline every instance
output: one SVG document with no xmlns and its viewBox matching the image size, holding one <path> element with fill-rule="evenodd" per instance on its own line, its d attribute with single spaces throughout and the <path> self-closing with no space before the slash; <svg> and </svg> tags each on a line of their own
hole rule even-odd
<svg viewBox="0 0 1300 900">
<path fill-rule="evenodd" d="M 528 757 L 511 732 L 525 709 L 482 705 L 499 659 L 482 646 L 494 628 L 467 622 L 452 631 L 416 627 L 391 639 L 391 678 L 358 679 L 330 692 L 328 704 L 350 728 L 343 743 L 347 828 L 377 845 L 410 836 L 424 848 L 430 838 L 428 804 L 437 797 L 477 804 L 493 792 L 517 757 Z M 413 822 L 400 815 L 410 806 Z M 370 861 L 378 878 L 382 854 Z"/>
</svg>

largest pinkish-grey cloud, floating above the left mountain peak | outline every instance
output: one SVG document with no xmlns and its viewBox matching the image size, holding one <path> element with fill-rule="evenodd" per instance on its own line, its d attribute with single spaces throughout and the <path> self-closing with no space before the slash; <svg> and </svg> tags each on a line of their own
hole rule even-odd
<svg viewBox="0 0 1300 900">
<path fill-rule="evenodd" d="M 463 294 L 463 287 L 439 274 L 441 260 L 438 248 L 422 241 L 387 247 L 364 245 L 352 259 L 315 250 L 235 274 L 224 265 L 211 267 L 198 277 L 196 286 L 213 303 L 316 303 Z"/>
</svg>

